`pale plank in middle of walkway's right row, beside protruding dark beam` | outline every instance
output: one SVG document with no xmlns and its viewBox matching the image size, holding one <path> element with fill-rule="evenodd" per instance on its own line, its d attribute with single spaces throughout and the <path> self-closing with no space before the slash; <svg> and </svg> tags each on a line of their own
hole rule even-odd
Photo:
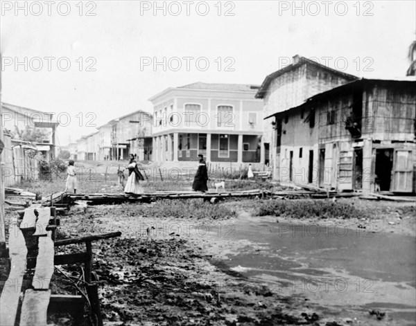
<svg viewBox="0 0 416 326">
<path fill-rule="evenodd" d="M 39 252 L 37 253 L 32 286 L 35 290 L 47 290 L 53 275 L 53 258 L 55 256 L 53 241 L 50 235 L 39 237 L 38 246 Z"/>
</svg>

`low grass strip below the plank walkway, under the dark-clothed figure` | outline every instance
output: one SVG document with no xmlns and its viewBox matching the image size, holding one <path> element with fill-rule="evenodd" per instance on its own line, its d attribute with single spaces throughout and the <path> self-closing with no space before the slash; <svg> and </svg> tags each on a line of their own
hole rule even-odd
<svg viewBox="0 0 416 326">
<path fill-rule="evenodd" d="M 123 203 L 119 206 L 106 206 L 103 215 L 107 214 L 178 219 L 229 219 L 236 217 L 237 212 L 234 208 L 221 204 L 202 202 L 202 199 L 175 199 L 156 201 L 152 204 Z"/>
</svg>

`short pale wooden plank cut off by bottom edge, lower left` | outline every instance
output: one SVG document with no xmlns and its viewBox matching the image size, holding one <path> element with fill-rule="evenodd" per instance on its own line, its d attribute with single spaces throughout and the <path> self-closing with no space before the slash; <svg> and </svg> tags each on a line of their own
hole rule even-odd
<svg viewBox="0 0 416 326">
<path fill-rule="evenodd" d="M 46 326 L 51 291 L 27 290 L 21 305 L 20 326 Z"/>
</svg>

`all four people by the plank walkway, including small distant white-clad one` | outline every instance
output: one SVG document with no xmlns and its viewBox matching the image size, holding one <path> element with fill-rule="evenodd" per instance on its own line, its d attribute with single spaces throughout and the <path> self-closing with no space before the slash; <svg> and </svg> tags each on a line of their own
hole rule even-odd
<svg viewBox="0 0 416 326">
<path fill-rule="evenodd" d="M 135 160 L 136 156 L 130 154 L 129 156 L 130 161 L 128 166 L 125 167 L 124 170 L 128 170 L 128 179 L 125 183 L 124 192 L 126 194 L 142 194 L 144 193 L 143 187 L 140 185 L 140 181 L 144 181 L 144 176 L 139 171 L 139 167 L 137 166 L 137 162 Z M 206 192 L 208 191 L 207 181 L 208 181 L 208 171 L 207 171 L 207 163 L 204 160 L 204 156 L 202 154 L 198 155 L 199 163 L 198 163 L 198 170 L 196 170 L 195 177 L 193 179 L 192 190 L 193 191 L 201 191 Z M 73 191 L 76 194 L 76 189 L 78 188 L 78 182 L 76 179 L 76 171 L 74 161 L 69 160 L 68 168 L 67 168 L 67 183 L 65 185 L 65 192 Z M 124 171 L 123 170 L 123 171 Z M 251 164 L 248 166 L 248 178 L 251 179 L 254 176 L 252 172 Z"/>
</svg>

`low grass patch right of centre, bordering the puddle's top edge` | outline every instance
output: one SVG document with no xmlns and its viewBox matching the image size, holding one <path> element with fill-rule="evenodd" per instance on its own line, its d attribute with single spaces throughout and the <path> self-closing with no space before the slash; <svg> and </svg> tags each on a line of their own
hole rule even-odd
<svg viewBox="0 0 416 326">
<path fill-rule="evenodd" d="M 254 215 L 274 215 L 281 217 L 309 218 L 320 217 L 321 219 L 341 218 L 354 219 L 367 217 L 367 213 L 349 203 L 337 201 L 300 199 L 300 200 L 263 200 L 254 210 Z"/>
</svg>

